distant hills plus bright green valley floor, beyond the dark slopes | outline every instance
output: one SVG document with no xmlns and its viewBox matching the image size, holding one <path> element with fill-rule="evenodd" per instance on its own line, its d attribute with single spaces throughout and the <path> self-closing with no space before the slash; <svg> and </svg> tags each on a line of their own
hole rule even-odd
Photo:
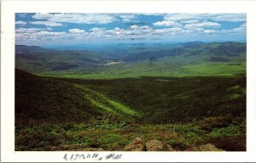
<svg viewBox="0 0 256 163">
<path fill-rule="evenodd" d="M 18 45 L 15 66 L 49 76 L 230 76 L 245 72 L 246 46 L 242 42 L 186 42 L 129 44 L 88 51 Z"/>
</svg>

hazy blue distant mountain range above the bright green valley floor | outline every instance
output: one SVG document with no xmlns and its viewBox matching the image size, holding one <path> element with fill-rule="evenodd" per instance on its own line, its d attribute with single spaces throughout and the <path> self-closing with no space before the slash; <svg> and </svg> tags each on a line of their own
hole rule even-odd
<svg viewBox="0 0 256 163">
<path fill-rule="evenodd" d="M 247 44 L 243 42 L 185 42 L 173 44 L 134 44 L 96 48 L 95 50 L 55 50 L 38 46 L 15 46 L 15 66 L 32 73 L 95 73 L 106 65 L 132 65 L 148 62 L 151 57 L 173 60 L 180 65 L 195 62 L 245 62 Z M 192 58 L 191 58 L 192 57 Z M 191 59 L 189 59 L 191 58 Z M 183 60 L 186 60 L 186 63 Z M 189 60 L 191 60 L 189 62 Z M 112 64 L 114 63 L 114 64 Z M 125 63 L 125 64 L 123 64 Z M 109 67 L 109 66 L 108 66 Z"/>
</svg>

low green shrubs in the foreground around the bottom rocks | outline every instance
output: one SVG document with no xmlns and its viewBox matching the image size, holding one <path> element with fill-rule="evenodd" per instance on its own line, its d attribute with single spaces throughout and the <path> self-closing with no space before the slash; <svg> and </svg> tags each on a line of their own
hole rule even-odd
<svg viewBox="0 0 256 163">
<path fill-rule="evenodd" d="M 241 151 L 245 146 L 245 120 L 231 115 L 205 118 L 186 124 L 142 125 L 113 121 L 66 123 L 16 128 L 16 150 L 123 150 L 134 138 L 158 139 L 175 150 L 212 143 L 219 149 Z"/>
</svg>

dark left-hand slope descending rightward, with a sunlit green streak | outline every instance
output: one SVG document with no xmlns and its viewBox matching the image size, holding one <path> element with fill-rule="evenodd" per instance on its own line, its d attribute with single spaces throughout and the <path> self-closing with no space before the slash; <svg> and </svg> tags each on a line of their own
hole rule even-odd
<svg viewBox="0 0 256 163">
<path fill-rule="evenodd" d="M 108 107 L 99 107 L 104 104 L 108 104 Z M 16 126 L 42 122 L 88 122 L 92 117 L 108 114 L 105 108 L 114 113 L 118 110 L 119 117 L 127 120 L 129 116 L 126 115 L 138 115 L 125 105 L 113 102 L 89 88 L 15 70 Z"/>
</svg>

